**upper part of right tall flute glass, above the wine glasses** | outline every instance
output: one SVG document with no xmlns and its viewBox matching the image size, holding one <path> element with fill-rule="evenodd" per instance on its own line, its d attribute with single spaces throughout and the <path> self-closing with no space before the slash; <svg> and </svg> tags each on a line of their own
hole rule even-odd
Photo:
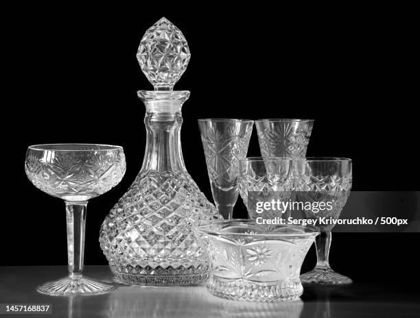
<svg viewBox="0 0 420 318">
<path fill-rule="evenodd" d="M 302 158 L 306 156 L 313 119 L 259 119 L 259 149 L 263 157 Z"/>
</svg>

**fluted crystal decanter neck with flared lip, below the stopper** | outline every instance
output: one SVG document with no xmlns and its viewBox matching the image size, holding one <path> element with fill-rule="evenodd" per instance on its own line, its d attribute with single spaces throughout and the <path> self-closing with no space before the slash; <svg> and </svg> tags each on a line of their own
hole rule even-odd
<svg viewBox="0 0 420 318">
<path fill-rule="evenodd" d="M 181 108 L 187 91 L 139 91 L 146 106 L 146 149 L 141 173 L 186 171 L 180 145 Z"/>
</svg>

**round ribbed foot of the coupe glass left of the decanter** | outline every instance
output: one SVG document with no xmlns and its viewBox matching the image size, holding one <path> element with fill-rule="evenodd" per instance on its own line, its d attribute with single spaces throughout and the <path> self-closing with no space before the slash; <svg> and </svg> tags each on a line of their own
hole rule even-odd
<svg viewBox="0 0 420 318">
<path fill-rule="evenodd" d="M 93 295 L 108 293 L 114 289 L 113 285 L 104 284 L 91 278 L 80 276 L 78 278 L 66 277 L 54 282 L 46 282 L 38 286 L 38 293 L 51 296 Z"/>
</svg>

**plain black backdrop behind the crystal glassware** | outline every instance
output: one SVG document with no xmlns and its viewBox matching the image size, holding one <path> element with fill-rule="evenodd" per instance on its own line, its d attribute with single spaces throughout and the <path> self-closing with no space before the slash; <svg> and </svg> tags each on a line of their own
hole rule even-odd
<svg viewBox="0 0 420 318">
<path fill-rule="evenodd" d="M 409 9 L 186 6 L 37 3 L 4 11 L 12 19 L 3 59 L 1 157 L 8 190 L 0 265 L 67 264 L 65 205 L 38 191 L 23 169 L 27 146 L 39 143 L 124 147 L 124 180 L 88 206 L 85 264 L 106 264 L 100 225 L 135 179 L 145 147 L 136 92 L 152 86 L 135 54 L 161 16 L 183 31 L 191 49 L 175 89 L 191 90 L 183 107 L 183 154 L 209 199 L 197 125 L 205 117 L 315 119 L 307 156 L 352 158 L 353 190 L 419 190 L 418 36 Z M 259 156 L 255 132 L 248 155 Z M 245 215 L 238 199 L 235 217 Z M 418 242 L 418 234 L 334 234 L 331 265 L 355 281 L 412 278 Z M 303 270 L 314 262 L 311 251 Z"/>
</svg>

